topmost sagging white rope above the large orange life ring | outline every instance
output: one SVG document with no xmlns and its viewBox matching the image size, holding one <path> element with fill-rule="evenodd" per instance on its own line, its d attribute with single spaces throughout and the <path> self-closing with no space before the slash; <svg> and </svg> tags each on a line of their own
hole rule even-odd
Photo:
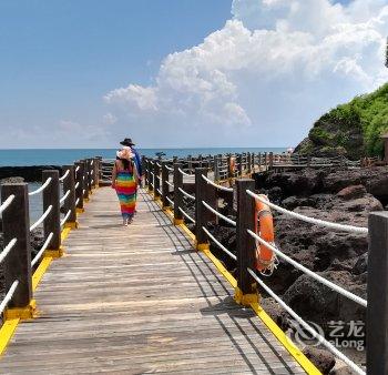
<svg viewBox="0 0 388 375">
<path fill-rule="evenodd" d="M 288 216 L 292 216 L 294 219 L 298 219 L 300 221 L 304 221 L 306 223 L 310 223 L 310 224 L 315 224 L 315 225 L 319 225 L 319 226 L 326 226 L 333 230 L 337 230 L 337 231 L 344 231 L 344 232 L 350 232 L 350 233 L 368 233 L 368 229 L 367 227 L 361 227 L 361 226 L 354 226 L 354 225 L 344 225 L 344 224 L 338 224 L 338 223 L 333 223 L 333 222 L 328 222 L 325 220 L 320 220 L 320 219 L 314 219 L 314 217 L 309 217 L 309 216 L 305 216 L 302 215 L 297 212 L 293 212 L 293 211 L 288 211 L 286 209 L 283 209 L 274 203 L 270 203 L 269 201 L 263 199 L 262 196 L 255 194 L 254 192 L 252 192 L 251 190 L 246 190 L 247 194 L 253 196 L 254 199 L 258 200 L 259 202 L 267 204 L 270 209 L 276 210 L 280 213 L 284 213 Z"/>
</svg>

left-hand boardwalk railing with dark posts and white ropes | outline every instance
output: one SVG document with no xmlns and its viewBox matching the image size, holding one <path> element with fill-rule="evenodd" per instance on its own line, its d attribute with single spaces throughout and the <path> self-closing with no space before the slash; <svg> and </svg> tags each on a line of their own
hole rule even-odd
<svg viewBox="0 0 388 375">
<path fill-rule="evenodd" d="M 2 219 L 3 251 L 0 264 L 4 273 L 6 295 L 0 303 L 3 324 L 30 318 L 34 314 L 35 290 L 42 268 L 63 254 L 64 231 L 74 229 L 76 214 L 83 211 L 92 189 L 99 185 L 100 159 L 86 159 L 74 165 L 63 165 L 63 174 L 57 170 L 42 172 L 42 185 L 28 191 L 27 183 L 6 183 L 1 186 L 0 215 Z M 30 223 L 32 195 L 42 195 L 42 215 Z M 43 227 L 42 246 L 31 257 L 31 234 Z M 1 338 L 1 352 L 4 339 Z"/>
</svg>

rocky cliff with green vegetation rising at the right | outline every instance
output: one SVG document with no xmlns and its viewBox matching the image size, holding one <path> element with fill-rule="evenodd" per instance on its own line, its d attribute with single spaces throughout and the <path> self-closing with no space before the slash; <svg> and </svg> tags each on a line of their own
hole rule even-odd
<svg viewBox="0 0 388 375">
<path fill-rule="evenodd" d="M 382 155 L 380 135 L 388 130 L 388 83 L 324 114 L 296 152 L 356 160 Z"/>
</svg>

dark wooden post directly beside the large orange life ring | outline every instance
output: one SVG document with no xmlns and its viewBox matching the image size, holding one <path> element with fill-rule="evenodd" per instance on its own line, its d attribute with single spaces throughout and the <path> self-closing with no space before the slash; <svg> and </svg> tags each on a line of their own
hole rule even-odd
<svg viewBox="0 0 388 375">
<path fill-rule="evenodd" d="M 254 270 L 255 240 L 247 230 L 255 232 L 255 201 L 246 190 L 255 190 L 255 181 L 251 179 L 236 180 L 237 185 L 237 290 L 235 298 L 239 304 L 248 305 L 257 301 L 255 283 L 247 271 Z"/>
</svg>

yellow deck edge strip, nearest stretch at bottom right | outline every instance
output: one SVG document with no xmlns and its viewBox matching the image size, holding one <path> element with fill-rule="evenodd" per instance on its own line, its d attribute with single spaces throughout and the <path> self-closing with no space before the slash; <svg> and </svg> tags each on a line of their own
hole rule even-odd
<svg viewBox="0 0 388 375">
<path fill-rule="evenodd" d="M 321 375 L 320 371 L 314 366 L 258 303 L 252 303 L 251 307 L 307 374 Z"/>
</svg>

